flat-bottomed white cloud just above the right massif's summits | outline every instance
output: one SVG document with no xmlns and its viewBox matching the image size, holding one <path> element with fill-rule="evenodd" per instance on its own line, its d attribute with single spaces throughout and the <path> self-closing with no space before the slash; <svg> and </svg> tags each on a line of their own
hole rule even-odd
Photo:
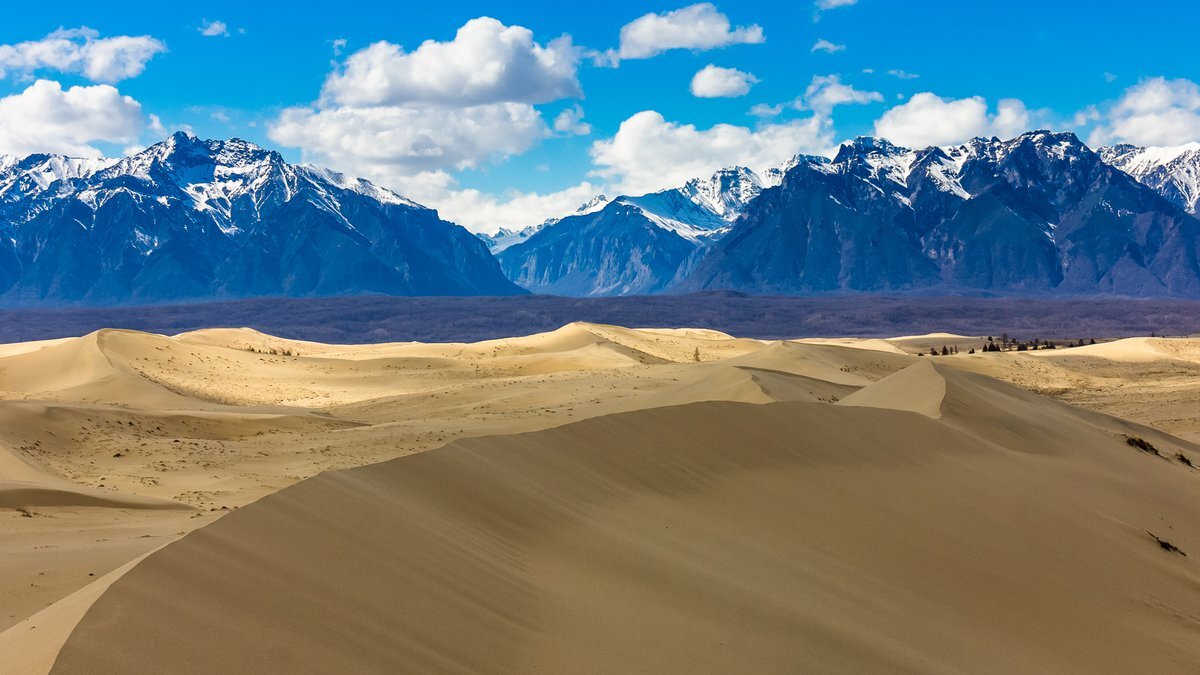
<svg viewBox="0 0 1200 675">
<path fill-rule="evenodd" d="M 914 94 L 875 121 L 875 135 L 899 145 L 926 148 L 960 143 L 976 136 L 1009 138 L 1028 130 L 1025 103 L 1004 98 L 989 113 L 982 96 L 942 98 L 923 91 Z"/>
</svg>

